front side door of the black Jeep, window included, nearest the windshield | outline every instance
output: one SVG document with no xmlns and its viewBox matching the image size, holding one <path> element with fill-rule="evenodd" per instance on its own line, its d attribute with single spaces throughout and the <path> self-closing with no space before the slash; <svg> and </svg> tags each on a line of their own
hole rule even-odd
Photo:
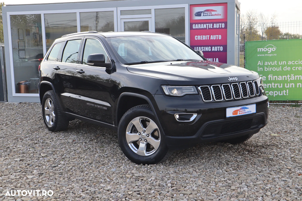
<svg viewBox="0 0 302 201">
<path fill-rule="evenodd" d="M 90 54 L 104 54 L 107 63 L 109 56 L 100 39 L 85 38 L 80 55 L 82 64 L 77 65 L 75 77 L 77 94 L 80 100 L 79 115 L 89 119 L 113 124 L 112 103 L 110 98 L 110 74 L 105 67 L 90 66 L 87 58 Z"/>
</svg>

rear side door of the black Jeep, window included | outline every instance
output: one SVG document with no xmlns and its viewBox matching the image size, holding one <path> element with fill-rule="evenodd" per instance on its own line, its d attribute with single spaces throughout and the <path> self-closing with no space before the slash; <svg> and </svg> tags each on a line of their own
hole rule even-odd
<svg viewBox="0 0 302 201">
<path fill-rule="evenodd" d="M 61 62 L 53 68 L 56 69 L 56 79 L 60 86 L 60 99 L 66 112 L 78 113 L 78 99 L 75 98 L 75 69 L 79 64 L 79 51 L 82 44 L 82 38 L 73 38 L 66 41 Z"/>
</svg>

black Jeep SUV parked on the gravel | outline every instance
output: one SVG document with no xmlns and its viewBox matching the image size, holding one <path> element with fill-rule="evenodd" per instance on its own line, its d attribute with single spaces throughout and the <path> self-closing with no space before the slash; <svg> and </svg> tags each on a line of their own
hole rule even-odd
<svg viewBox="0 0 302 201">
<path fill-rule="evenodd" d="M 64 130 L 73 119 L 115 129 L 123 153 L 138 164 L 198 142 L 244 142 L 267 124 L 256 72 L 207 61 L 169 35 L 65 35 L 39 69 L 48 130 Z"/>
</svg>

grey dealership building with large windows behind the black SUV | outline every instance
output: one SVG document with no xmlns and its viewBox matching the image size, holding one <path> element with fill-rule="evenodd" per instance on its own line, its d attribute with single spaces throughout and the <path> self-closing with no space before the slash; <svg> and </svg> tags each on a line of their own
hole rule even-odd
<svg viewBox="0 0 302 201">
<path fill-rule="evenodd" d="M 170 34 L 194 50 L 202 50 L 208 60 L 239 65 L 237 0 L 6 5 L 2 15 L 6 61 L 6 73 L 2 73 L 6 75 L 8 102 L 40 102 L 39 63 L 56 38 L 75 32 Z"/>
</svg>

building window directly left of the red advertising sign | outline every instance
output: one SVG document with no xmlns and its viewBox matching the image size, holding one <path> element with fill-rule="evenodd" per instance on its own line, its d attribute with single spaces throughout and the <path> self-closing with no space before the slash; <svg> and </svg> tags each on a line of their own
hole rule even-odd
<svg viewBox="0 0 302 201">
<path fill-rule="evenodd" d="M 155 9 L 155 32 L 170 34 L 185 43 L 185 8 Z"/>
</svg>

